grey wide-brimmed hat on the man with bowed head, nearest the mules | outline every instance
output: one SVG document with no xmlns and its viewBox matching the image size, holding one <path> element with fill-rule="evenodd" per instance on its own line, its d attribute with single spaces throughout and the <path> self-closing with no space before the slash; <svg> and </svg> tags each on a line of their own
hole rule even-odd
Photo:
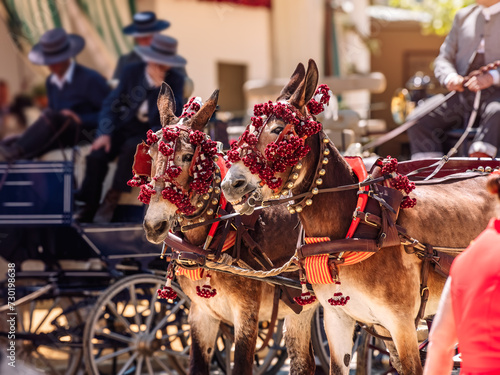
<svg viewBox="0 0 500 375">
<path fill-rule="evenodd" d="M 180 68 L 186 65 L 186 59 L 177 54 L 177 39 L 171 36 L 156 34 L 151 45 L 137 46 L 135 51 L 146 62 Z"/>
</svg>

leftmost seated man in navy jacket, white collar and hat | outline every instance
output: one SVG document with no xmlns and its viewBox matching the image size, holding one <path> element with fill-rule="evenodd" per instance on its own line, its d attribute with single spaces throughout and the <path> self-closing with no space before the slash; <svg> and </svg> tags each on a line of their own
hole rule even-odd
<svg viewBox="0 0 500 375">
<path fill-rule="evenodd" d="M 104 98 L 110 89 L 98 72 L 74 61 L 84 39 L 62 28 L 45 32 L 28 54 L 35 65 L 45 65 L 48 109 L 17 139 L 0 143 L 0 161 L 40 156 L 58 147 L 93 141 Z"/>
</svg>

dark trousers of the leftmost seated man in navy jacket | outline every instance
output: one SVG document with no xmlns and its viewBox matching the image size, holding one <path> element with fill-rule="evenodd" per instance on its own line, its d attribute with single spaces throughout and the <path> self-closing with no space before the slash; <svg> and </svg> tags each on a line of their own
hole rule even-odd
<svg viewBox="0 0 500 375">
<path fill-rule="evenodd" d="M 9 147 L 13 149 L 14 159 L 32 159 L 57 148 L 74 146 L 81 140 L 78 124 L 48 109 L 19 138 L 9 142 Z"/>
</svg>

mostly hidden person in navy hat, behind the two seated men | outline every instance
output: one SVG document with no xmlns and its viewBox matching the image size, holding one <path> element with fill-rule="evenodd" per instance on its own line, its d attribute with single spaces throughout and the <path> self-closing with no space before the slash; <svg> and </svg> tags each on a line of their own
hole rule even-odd
<svg viewBox="0 0 500 375">
<path fill-rule="evenodd" d="M 170 22 L 157 19 L 154 12 L 136 13 L 134 14 L 132 21 L 133 22 L 130 25 L 123 28 L 123 33 L 125 35 L 132 36 L 134 38 L 135 45 L 142 47 L 149 46 L 155 34 L 170 27 Z M 135 50 L 121 56 L 116 64 L 113 79 L 119 79 L 123 72 L 123 68 L 125 68 L 128 64 L 141 61 L 141 57 Z"/>
</svg>

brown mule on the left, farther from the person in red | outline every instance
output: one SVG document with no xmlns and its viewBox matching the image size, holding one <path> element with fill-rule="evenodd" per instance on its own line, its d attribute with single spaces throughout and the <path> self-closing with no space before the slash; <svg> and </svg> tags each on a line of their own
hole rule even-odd
<svg viewBox="0 0 500 375">
<path fill-rule="evenodd" d="M 182 126 L 188 130 L 203 130 L 215 111 L 218 91 L 191 118 L 177 118 L 174 115 L 175 101 L 171 90 L 164 86 L 158 98 L 158 109 L 163 129 L 175 129 Z M 191 163 L 196 158 L 195 147 L 190 143 L 187 131 L 180 132 L 176 141 L 173 162 L 181 167 L 181 173 L 175 178 L 178 186 L 191 193 Z M 162 131 L 156 133 L 162 139 Z M 165 156 L 158 150 L 158 142 L 151 145 L 149 154 L 152 157 L 151 177 L 161 176 L 165 170 Z M 150 242 L 162 243 L 170 229 L 180 220 L 179 207 L 162 197 L 165 182 L 155 179 L 149 207 L 144 218 L 144 230 Z M 190 202 L 199 212 L 206 211 L 206 205 L 199 194 L 192 193 Z M 298 219 L 290 216 L 284 207 L 278 207 L 263 213 L 250 234 L 266 254 L 269 254 L 275 266 L 281 266 L 289 260 L 289 253 L 295 247 Z M 283 230 L 287 228 L 287 230 Z M 186 231 L 184 240 L 197 246 L 203 246 L 210 226 L 201 226 Z M 215 241 L 215 239 L 214 239 Z M 256 260 L 250 256 L 245 243 L 241 246 L 241 259 L 254 269 L 261 269 Z M 186 276 L 178 276 L 183 291 L 191 299 L 189 323 L 191 327 L 190 374 L 208 374 L 211 357 L 214 353 L 219 324 L 225 322 L 234 326 L 235 351 L 234 374 L 252 374 L 254 351 L 256 347 L 259 321 L 271 320 L 273 311 L 274 287 L 266 282 L 256 281 L 240 276 L 211 272 L 210 285 L 217 294 L 212 298 L 202 298 L 196 288 L 203 287 L 205 280 L 193 281 Z M 311 319 L 317 304 L 304 308 L 296 314 L 282 301 L 279 302 L 278 318 L 285 319 L 285 344 L 291 358 L 291 373 L 313 374 L 315 360 L 312 352 Z"/>
</svg>

